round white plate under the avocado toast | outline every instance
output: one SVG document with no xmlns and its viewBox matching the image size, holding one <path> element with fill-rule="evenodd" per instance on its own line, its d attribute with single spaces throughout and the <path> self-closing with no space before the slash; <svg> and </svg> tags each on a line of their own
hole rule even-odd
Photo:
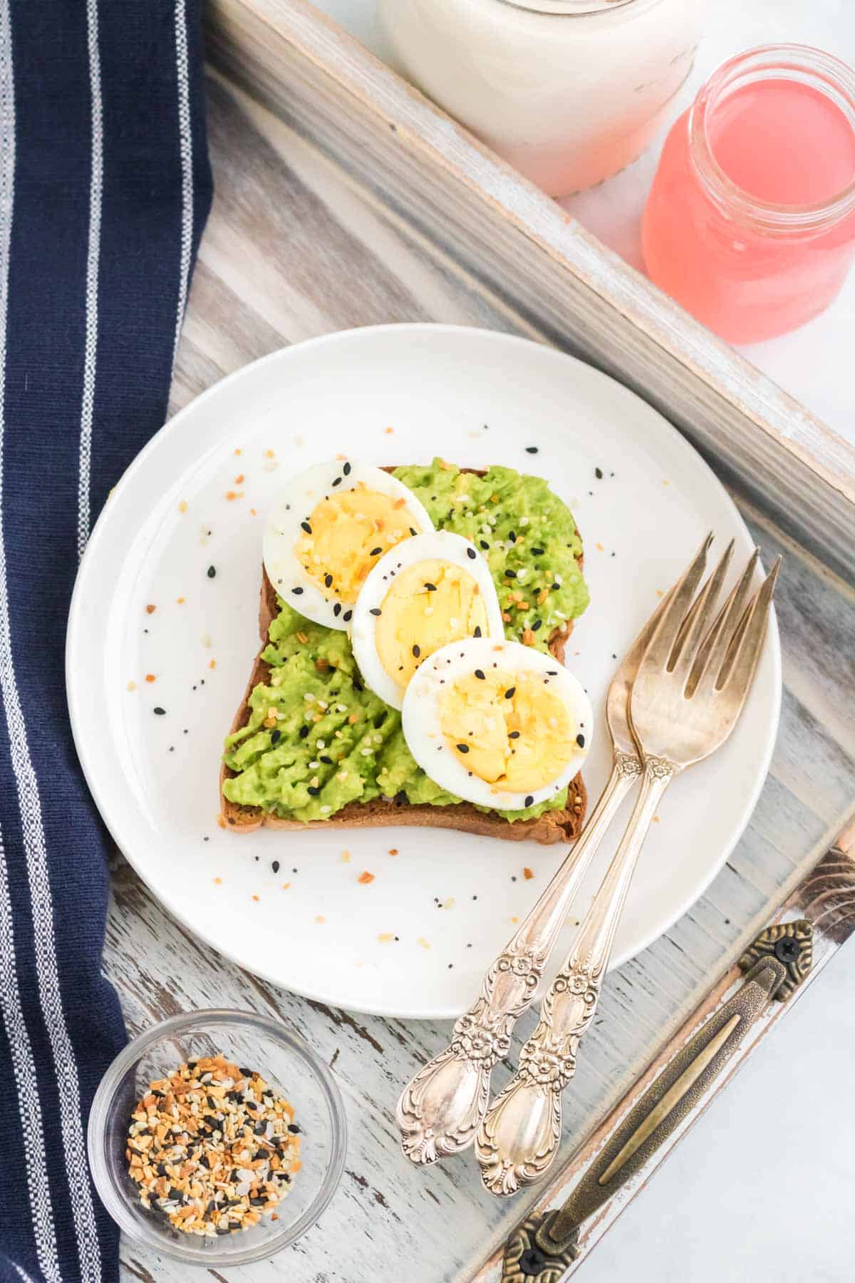
<svg viewBox="0 0 855 1283">
<path fill-rule="evenodd" d="M 259 975 L 335 1006 L 451 1017 L 560 847 L 435 829 L 236 837 L 217 826 L 222 740 L 258 649 L 264 516 L 291 471 L 340 450 L 378 464 L 435 453 L 504 463 L 547 477 L 570 504 L 591 586 L 568 659 L 600 718 L 585 772 L 592 799 L 609 765 L 602 698 L 615 657 L 708 530 L 720 547 L 736 539 L 736 562 L 751 539 L 702 459 L 632 393 L 550 348 L 454 326 L 353 330 L 273 353 L 177 414 L 117 486 L 81 565 L 68 634 L 77 748 L 117 843 L 176 917 Z M 617 964 L 724 863 L 767 774 L 779 693 L 773 624 L 736 734 L 663 803 Z"/>
</svg>

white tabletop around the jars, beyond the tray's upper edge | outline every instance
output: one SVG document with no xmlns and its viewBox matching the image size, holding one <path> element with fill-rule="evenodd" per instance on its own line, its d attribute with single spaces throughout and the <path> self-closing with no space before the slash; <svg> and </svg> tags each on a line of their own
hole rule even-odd
<svg viewBox="0 0 855 1283">
<path fill-rule="evenodd" d="M 315 0 L 369 49 L 388 59 L 374 0 Z M 855 63 L 855 8 L 847 0 L 719 0 L 710 5 L 708 31 L 695 69 L 674 104 L 676 118 L 723 59 L 752 45 L 797 41 Z M 641 268 L 640 225 L 645 198 L 664 140 L 623 173 L 590 192 L 563 201 L 633 267 Z M 824 316 L 791 335 L 746 348 L 764 373 L 797 396 L 836 431 L 855 441 L 855 391 L 850 373 L 855 343 L 855 271 Z"/>
</svg>

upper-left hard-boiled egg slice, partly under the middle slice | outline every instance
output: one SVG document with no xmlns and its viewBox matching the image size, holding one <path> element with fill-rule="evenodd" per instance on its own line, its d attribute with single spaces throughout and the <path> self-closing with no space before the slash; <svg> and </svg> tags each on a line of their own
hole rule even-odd
<svg viewBox="0 0 855 1283">
<path fill-rule="evenodd" d="M 372 566 L 432 530 L 401 481 L 365 463 L 333 459 L 291 477 L 264 532 L 264 567 L 288 606 L 346 629 Z"/>
</svg>

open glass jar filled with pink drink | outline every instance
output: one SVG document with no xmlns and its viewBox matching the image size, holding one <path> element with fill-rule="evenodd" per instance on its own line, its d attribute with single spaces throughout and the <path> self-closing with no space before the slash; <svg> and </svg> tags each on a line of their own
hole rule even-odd
<svg viewBox="0 0 855 1283">
<path fill-rule="evenodd" d="M 855 258 L 855 72 L 804 45 L 719 67 L 668 135 L 642 244 L 650 278 L 729 343 L 827 308 Z"/>
</svg>

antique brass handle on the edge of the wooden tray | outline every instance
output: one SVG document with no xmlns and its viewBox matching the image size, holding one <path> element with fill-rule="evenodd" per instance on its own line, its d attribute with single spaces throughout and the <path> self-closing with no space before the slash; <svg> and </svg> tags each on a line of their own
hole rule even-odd
<svg viewBox="0 0 855 1283">
<path fill-rule="evenodd" d="M 654 1079 L 576 1185 L 563 1207 L 519 1225 L 505 1245 L 502 1283 L 560 1283 L 579 1255 L 583 1223 L 629 1180 L 695 1109 L 764 1007 L 784 1002 L 813 964 L 813 929 L 799 920 L 770 926 L 740 958 L 733 997 Z"/>
</svg>

